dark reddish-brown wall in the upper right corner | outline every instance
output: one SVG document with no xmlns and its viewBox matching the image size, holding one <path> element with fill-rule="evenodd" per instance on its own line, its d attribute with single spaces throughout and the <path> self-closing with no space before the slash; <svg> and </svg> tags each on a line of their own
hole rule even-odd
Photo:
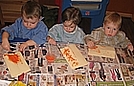
<svg viewBox="0 0 134 86">
<path fill-rule="evenodd" d="M 109 0 L 107 12 L 118 12 L 134 20 L 134 0 Z"/>
</svg>

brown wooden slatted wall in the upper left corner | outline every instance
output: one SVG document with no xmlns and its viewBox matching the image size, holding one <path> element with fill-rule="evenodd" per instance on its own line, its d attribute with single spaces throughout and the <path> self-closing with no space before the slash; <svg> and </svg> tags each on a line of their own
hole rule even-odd
<svg viewBox="0 0 134 86">
<path fill-rule="evenodd" d="M 0 0 L 4 22 L 14 22 L 20 17 L 21 7 L 26 1 L 28 0 Z"/>
</svg>

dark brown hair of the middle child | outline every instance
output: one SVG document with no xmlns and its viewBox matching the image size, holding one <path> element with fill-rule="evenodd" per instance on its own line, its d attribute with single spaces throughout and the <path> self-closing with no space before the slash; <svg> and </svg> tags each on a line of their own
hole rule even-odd
<svg viewBox="0 0 134 86">
<path fill-rule="evenodd" d="M 77 25 L 81 21 L 81 16 L 79 8 L 68 7 L 62 12 L 62 22 L 72 21 Z"/>
</svg>

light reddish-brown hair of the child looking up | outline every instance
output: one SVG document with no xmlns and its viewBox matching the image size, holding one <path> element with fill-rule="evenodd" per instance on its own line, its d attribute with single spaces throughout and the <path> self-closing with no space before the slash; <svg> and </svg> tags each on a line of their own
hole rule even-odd
<svg viewBox="0 0 134 86">
<path fill-rule="evenodd" d="M 113 23 L 114 25 L 117 25 L 118 28 L 121 27 L 121 23 L 122 23 L 122 17 L 118 14 L 118 13 L 111 13 L 108 14 L 105 18 L 104 18 L 104 24 L 106 23 Z"/>
</svg>

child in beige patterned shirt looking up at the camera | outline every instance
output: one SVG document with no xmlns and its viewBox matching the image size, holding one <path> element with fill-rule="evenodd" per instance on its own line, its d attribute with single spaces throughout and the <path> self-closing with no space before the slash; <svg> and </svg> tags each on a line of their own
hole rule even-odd
<svg viewBox="0 0 134 86">
<path fill-rule="evenodd" d="M 118 13 L 111 13 L 104 19 L 103 27 L 95 29 L 84 37 L 85 43 L 89 48 L 96 44 L 113 46 L 115 48 L 126 48 L 133 50 L 133 46 L 126 37 L 125 33 L 119 31 L 122 18 Z"/>
</svg>

